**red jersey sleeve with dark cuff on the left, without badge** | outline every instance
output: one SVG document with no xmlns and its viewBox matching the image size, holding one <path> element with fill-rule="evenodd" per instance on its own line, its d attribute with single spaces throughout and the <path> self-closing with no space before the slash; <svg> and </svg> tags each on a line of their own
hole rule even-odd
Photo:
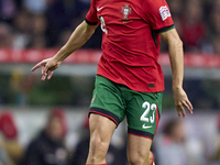
<svg viewBox="0 0 220 165">
<path fill-rule="evenodd" d="M 96 10 L 96 0 L 91 0 L 90 8 L 88 13 L 86 14 L 86 22 L 90 25 L 96 25 L 99 20 L 97 18 L 97 10 Z"/>
</svg>

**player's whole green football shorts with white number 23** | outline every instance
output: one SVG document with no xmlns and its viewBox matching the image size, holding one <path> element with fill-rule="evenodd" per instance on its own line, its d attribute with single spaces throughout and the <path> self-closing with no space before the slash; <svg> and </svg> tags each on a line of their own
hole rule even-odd
<svg viewBox="0 0 220 165">
<path fill-rule="evenodd" d="M 111 119 L 117 125 L 127 117 L 128 132 L 153 140 L 162 113 L 163 92 L 139 92 L 96 76 L 89 113 Z"/>
</svg>

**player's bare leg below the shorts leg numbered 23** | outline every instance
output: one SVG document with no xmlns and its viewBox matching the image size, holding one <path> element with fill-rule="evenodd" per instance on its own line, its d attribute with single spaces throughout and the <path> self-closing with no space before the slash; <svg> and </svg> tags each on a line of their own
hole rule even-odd
<svg viewBox="0 0 220 165">
<path fill-rule="evenodd" d="M 136 162 L 142 162 L 144 164 L 150 163 L 148 160 L 152 158 L 148 157 L 151 145 L 152 140 L 129 134 L 127 148 L 129 162 L 131 164 L 136 164 Z"/>
</svg>

